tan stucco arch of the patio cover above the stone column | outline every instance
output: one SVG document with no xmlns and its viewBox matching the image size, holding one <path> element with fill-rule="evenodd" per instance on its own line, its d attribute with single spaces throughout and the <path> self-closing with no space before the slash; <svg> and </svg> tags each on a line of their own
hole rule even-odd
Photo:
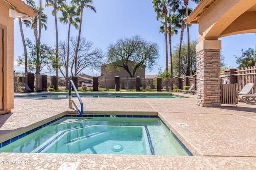
<svg viewBox="0 0 256 170">
<path fill-rule="evenodd" d="M 224 37 L 227 35 L 253 32 L 250 30 L 252 29 L 250 27 L 252 27 L 253 24 L 251 23 L 252 25 L 250 25 L 250 23 L 248 23 L 248 28 L 246 28 L 246 23 L 244 23 L 244 21 L 255 20 L 255 13 L 245 13 L 255 4 L 255 0 L 214 1 L 199 18 L 199 42 L 203 40 L 218 40 L 219 37 Z M 246 15 L 239 18 L 244 13 Z M 251 17 L 251 19 L 247 17 Z M 249 30 L 244 31 L 247 29 Z"/>
</svg>

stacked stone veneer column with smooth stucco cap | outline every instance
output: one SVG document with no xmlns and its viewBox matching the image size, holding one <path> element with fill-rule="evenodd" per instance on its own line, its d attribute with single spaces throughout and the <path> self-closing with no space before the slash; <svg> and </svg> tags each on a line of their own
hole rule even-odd
<svg viewBox="0 0 256 170">
<path fill-rule="evenodd" d="M 196 105 L 220 107 L 221 41 L 204 40 L 196 45 Z"/>
</svg>

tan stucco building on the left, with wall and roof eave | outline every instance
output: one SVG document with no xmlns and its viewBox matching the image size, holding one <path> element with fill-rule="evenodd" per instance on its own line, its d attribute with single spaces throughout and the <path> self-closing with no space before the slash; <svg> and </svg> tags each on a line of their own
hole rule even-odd
<svg viewBox="0 0 256 170">
<path fill-rule="evenodd" d="M 0 0 L 0 114 L 10 113 L 13 109 L 13 54 L 14 54 L 14 18 L 9 9 L 26 14 L 29 18 L 37 15 L 30 6 L 21 0 Z"/>
</svg>

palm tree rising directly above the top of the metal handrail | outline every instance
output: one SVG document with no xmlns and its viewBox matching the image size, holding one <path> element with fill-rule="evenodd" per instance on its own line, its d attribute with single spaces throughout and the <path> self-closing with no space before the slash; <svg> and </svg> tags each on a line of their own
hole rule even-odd
<svg viewBox="0 0 256 170">
<path fill-rule="evenodd" d="M 78 17 L 78 14 L 76 12 L 76 6 L 74 5 L 64 5 L 62 8 L 62 17 L 60 17 L 60 22 L 63 22 L 64 24 L 68 23 L 68 43 L 67 46 L 64 42 L 62 42 L 62 66 L 65 67 L 65 74 L 60 69 L 60 72 L 64 77 L 68 77 L 68 67 L 69 67 L 69 61 L 70 61 L 70 27 L 73 25 L 76 29 L 78 29 L 78 22 L 80 22 L 80 18 Z M 66 49 L 63 49 L 66 48 Z M 65 54 L 65 55 L 63 55 Z M 65 61 L 65 62 L 63 62 Z"/>
</svg>

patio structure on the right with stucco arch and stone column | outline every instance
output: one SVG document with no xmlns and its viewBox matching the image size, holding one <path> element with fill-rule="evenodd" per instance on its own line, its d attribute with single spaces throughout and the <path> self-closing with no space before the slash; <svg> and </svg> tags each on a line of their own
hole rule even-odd
<svg viewBox="0 0 256 170">
<path fill-rule="evenodd" d="M 218 38 L 256 33 L 256 0 L 202 0 L 186 22 L 199 24 L 196 104 L 219 107 L 221 41 Z"/>
</svg>

